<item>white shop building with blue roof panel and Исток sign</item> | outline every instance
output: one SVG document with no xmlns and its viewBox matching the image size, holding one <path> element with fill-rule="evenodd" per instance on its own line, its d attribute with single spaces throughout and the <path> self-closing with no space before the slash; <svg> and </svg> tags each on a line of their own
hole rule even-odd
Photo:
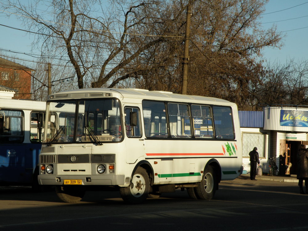
<svg viewBox="0 0 308 231">
<path fill-rule="evenodd" d="M 244 170 L 250 172 L 249 152 L 257 147 L 263 173 L 269 173 L 273 157 L 280 174 L 296 175 L 299 145 L 308 145 L 308 108 L 267 106 L 263 111 L 239 111 L 239 118 Z"/>
</svg>

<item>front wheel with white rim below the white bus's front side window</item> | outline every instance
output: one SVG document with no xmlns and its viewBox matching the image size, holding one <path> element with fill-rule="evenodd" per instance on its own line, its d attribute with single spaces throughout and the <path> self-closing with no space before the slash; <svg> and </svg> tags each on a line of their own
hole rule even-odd
<svg viewBox="0 0 308 231">
<path fill-rule="evenodd" d="M 132 176 L 130 186 L 120 188 L 122 199 L 129 204 L 140 204 L 148 197 L 150 179 L 147 171 L 138 167 Z"/>
</svg>

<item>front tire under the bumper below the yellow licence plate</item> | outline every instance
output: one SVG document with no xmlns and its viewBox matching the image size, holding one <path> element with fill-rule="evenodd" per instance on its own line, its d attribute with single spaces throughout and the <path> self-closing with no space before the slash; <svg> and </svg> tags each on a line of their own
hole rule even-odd
<svg viewBox="0 0 308 231">
<path fill-rule="evenodd" d="M 64 202 L 75 203 L 80 201 L 86 193 L 83 186 L 55 186 L 57 196 Z"/>
</svg>

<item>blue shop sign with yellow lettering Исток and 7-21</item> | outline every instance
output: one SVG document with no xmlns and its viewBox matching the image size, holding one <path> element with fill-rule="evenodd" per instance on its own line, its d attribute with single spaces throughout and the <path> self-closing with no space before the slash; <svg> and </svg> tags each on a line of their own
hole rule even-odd
<svg viewBox="0 0 308 231">
<path fill-rule="evenodd" d="M 308 111 L 280 110 L 280 126 L 308 127 Z"/>
</svg>

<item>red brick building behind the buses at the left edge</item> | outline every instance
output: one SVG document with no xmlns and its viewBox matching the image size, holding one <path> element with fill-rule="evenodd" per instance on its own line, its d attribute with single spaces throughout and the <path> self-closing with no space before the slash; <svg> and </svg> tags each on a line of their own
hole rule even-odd
<svg viewBox="0 0 308 231">
<path fill-rule="evenodd" d="M 32 71 L 29 67 L 0 58 L 0 85 L 16 90 L 13 99 L 30 99 Z"/>
</svg>

